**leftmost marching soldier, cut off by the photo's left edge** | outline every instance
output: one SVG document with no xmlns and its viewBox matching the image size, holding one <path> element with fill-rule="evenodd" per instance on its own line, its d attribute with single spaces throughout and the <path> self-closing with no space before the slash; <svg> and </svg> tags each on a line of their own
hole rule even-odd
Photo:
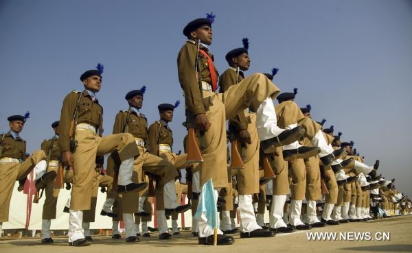
<svg viewBox="0 0 412 253">
<path fill-rule="evenodd" d="M 25 182 L 27 175 L 39 163 L 41 163 L 39 167 L 45 167 L 46 155 L 43 150 L 37 150 L 32 156 L 25 158 L 26 144 L 19 134 L 23 130 L 27 117 L 28 113 L 25 116 L 8 117 L 10 130 L 0 134 L 0 233 L 3 222 L 8 221 L 10 200 L 16 180 Z M 41 182 L 47 184 L 55 177 L 56 173 L 42 175 L 37 178 L 36 184 Z"/>
</svg>

